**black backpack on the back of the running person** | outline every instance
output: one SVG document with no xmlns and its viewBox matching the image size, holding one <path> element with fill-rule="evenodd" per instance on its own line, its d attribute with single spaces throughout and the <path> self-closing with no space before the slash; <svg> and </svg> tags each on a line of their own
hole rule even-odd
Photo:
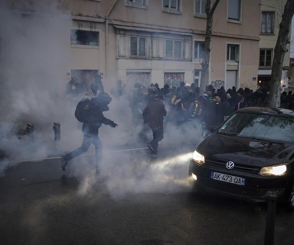
<svg viewBox="0 0 294 245">
<path fill-rule="evenodd" d="M 95 107 L 93 99 L 80 101 L 75 109 L 75 117 L 81 123 L 87 123 L 93 117 L 93 108 Z"/>
</svg>

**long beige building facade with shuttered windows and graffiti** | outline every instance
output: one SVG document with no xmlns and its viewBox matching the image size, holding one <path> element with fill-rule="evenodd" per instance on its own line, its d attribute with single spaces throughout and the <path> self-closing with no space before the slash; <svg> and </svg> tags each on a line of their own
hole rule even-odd
<svg viewBox="0 0 294 245">
<path fill-rule="evenodd" d="M 61 0 L 14 1 L 5 7 L 28 18 L 54 13 L 63 64 L 60 87 L 72 77 L 89 86 L 103 77 L 106 92 L 117 79 L 132 86 L 179 86 L 201 79 L 206 30 L 205 0 Z M 214 2 L 214 1 L 212 1 Z M 210 78 L 218 89 L 256 90 L 261 1 L 224 0 L 214 12 Z M 276 32 L 275 32 L 276 33 Z M 266 36 L 274 38 L 274 36 Z M 265 51 L 266 52 L 266 51 Z"/>
</svg>

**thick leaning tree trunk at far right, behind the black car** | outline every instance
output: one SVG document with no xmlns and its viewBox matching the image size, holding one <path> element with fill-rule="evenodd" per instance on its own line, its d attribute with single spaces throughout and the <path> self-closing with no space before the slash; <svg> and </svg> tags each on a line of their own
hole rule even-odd
<svg viewBox="0 0 294 245">
<path fill-rule="evenodd" d="M 290 43 L 289 31 L 294 14 L 294 1 L 287 0 L 280 23 L 280 30 L 277 44 L 274 48 L 274 60 L 272 65 L 272 78 L 270 84 L 269 107 L 280 106 L 280 89 L 284 57 L 287 50 L 287 43 Z"/>
</svg>

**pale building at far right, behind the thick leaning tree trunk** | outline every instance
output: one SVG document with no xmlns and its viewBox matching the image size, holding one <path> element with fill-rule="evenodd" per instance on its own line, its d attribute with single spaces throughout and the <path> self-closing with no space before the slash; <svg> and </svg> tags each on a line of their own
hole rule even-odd
<svg viewBox="0 0 294 245">
<path fill-rule="evenodd" d="M 279 34 L 279 24 L 282 20 L 282 13 L 287 0 L 261 0 L 261 25 L 259 41 L 259 67 L 258 67 L 258 85 L 269 89 L 272 62 L 274 58 L 274 48 Z M 291 36 L 291 28 L 289 36 Z M 285 54 L 281 88 L 288 89 L 291 83 L 288 70 L 290 65 L 290 44 L 287 45 L 288 52 Z"/>
</svg>

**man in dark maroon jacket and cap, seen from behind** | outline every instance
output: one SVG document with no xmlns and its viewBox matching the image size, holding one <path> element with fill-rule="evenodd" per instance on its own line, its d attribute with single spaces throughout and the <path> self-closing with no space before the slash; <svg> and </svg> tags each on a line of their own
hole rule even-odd
<svg viewBox="0 0 294 245">
<path fill-rule="evenodd" d="M 148 123 L 153 132 L 153 140 L 147 145 L 151 153 L 158 152 L 158 142 L 163 139 L 163 120 L 167 115 L 163 101 L 162 95 L 156 95 L 155 100 L 143 110 L 144 123 Z"/>
</svg>

